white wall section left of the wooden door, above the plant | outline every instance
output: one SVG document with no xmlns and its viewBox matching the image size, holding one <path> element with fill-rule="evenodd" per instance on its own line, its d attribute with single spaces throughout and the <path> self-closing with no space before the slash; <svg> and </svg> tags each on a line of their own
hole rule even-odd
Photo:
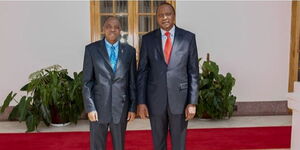
<svg viewBox="0 0 300 150">
<path fill-rule="evenodd" d="M 0 105 L 40 68 L 82 69 L 89 2 L 0 2 Z"/>
</svg>

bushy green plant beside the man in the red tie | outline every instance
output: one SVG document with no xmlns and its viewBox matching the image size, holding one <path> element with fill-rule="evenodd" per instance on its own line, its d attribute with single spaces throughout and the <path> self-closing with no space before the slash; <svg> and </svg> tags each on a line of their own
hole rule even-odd
<svg viewBox="0 0 300 150">
<path fill-rule="evenodd" d="M 201 59 L 199 59 L 200 61 Z M 236 97 L 232 95 L 235 79 L 230 73 L 219 73 L 219 66 L 209 59 L 203 62 L 199 80 L 199 102 L 197 116 L 202 118 L 230 118 Z"/>
</svg>

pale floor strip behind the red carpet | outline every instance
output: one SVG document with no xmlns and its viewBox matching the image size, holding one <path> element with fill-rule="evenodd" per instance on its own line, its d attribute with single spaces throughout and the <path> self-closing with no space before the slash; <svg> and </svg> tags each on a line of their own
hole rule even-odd
<svg viewBox="0 0 300 150">
<path fill-rule="evenodd" d="M 231 117 L 225 120 L 207 120 L 193 119 L 189 121 L 188 128 L 232 128 L 232 127 L 264 127 L 264 126 L 291 126 L 292 116 L 239 116 Z M 149 120 L 136 119 L 128 123 L 128 130 L 146 130 L 150 129 Z M 47 127 L 41 124 L 39 132 L 68 132 L 68 131 L 88 131 L 89 122 L 80 120 L 77 125 L 71 124 L 65 127 Z M 0 133 L 24 133 L 26 131 L 25 123 L 16 121 L 0 121 Z M 271 149 L 268 149 L 271 150 Z M 275 149 L 272 149 L 275 150 Z M 288 150 L 288 149 L 280 149 Z"/>
</svg>

